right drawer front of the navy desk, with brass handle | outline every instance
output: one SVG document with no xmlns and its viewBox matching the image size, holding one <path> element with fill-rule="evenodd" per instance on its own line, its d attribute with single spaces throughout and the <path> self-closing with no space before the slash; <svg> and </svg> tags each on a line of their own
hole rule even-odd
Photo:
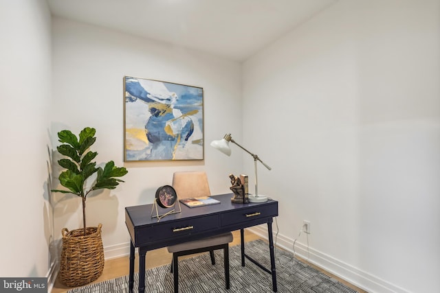
<svg viewBox="0 0 440 293">
<path fill-rule="evenodd" d="M 258 220 L 259 218 L 276 217 L 277 215 L 278 207 L 276 202 L 274 202 L 274 204 L 267 204 L 265 206 L 250 207 L 248 209 L 241 209 L 239 211 L 222 213 L 221 226 L 228 226 L 250 220 Z"/>
</svg>

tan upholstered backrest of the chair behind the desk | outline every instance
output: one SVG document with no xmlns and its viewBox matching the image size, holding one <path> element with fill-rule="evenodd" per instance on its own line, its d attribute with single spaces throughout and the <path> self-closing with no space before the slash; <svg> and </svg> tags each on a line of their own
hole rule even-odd
<svg viewBox="0 0 440 293">
<path fill-rule="evenodd" d="M 173 174 L 173 187 L 180 199 L 211 195 L 206 172 L 175 172 Z"/>
</svg>

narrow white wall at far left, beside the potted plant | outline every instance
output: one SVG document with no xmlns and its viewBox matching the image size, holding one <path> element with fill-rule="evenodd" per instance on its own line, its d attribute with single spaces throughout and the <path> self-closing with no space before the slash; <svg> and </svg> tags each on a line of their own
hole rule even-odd
<svg viewBox="0 0 440 293">
<path fill-rule="evenodd" d="M 54 261 L 50 21 L 43 0 L 0 1 L 1 277 L 45 277 Z"/>
</svg>

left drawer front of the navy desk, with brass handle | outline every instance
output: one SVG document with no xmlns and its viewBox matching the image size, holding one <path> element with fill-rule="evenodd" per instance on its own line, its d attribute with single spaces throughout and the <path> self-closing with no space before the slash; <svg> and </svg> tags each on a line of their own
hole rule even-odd
<svg viewBox="0 0 440 293">
<path fill-rule="evenodd" d="M 188 220 L 163 222 L 154 226 L 144 226 L 137 229 L 137 243 L 166 240 L 172 237 L 190 235 L 206 230 L 219 228 L 219 216 L 208 215 Z"/>
</svg>

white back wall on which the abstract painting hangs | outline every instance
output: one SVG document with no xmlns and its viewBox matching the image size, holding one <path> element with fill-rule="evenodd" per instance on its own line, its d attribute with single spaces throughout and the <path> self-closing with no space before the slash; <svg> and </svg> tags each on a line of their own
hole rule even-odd
<svg viewBox="0 0 440 293">
<path fill-rule="evenodd" d="M 97 132 L 93 150 L 98 163 L 113 160 L 129 170 L 117 189 L 87 200 L 87 226 L 103 224 L 106 257 L 129 251 L 124 207 L 153 202 L 156 189 L 170 184 L 173 172 L 206 170 L 212 194 L 230 192 L 228 174 L 241 172 L 241 154 L 228 158 L 209 143 L 228 131 L 241 137 L 238 63 L 63 19 L 53 19 L 52 27 L 53 148 L 59 130 L 78 133 L 91 126 Z M 123 162 L 124 75 L 203 87 L 204 161 Z M 80 198 L 54 194 L 54 200 L 55 234 L 60 238 L 63 227 L 82 226 Z"/>
</svg>

